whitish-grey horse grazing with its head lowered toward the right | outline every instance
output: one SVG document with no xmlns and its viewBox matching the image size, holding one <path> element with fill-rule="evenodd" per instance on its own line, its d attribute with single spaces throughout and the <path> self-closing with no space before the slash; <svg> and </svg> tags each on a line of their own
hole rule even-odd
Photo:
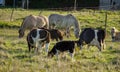
<svg viewBox="0 0 120 72">
<path fill-rule="evenodd" d="M 59 15 L 59 14 L 51 14 L 48 17 L 49 26 L 50 27 L 60 27 L 66 29 L 66 36 L 70 36 L 70 27 L 74 26 L 74 35 L 76 38 L 79 37 L 79 23 L 77 19 L 72 14 L 67 15 Z"/>
</svg>

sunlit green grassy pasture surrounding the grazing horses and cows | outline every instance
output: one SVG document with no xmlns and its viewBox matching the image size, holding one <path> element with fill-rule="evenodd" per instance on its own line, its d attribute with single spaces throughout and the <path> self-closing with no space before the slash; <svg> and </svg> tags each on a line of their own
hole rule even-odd
<svg viewBox="0 0 120 72">
<path fill-rule="evenodd" d="M 120 11 L 107 11 L 106 48 L 99 52 L 97 47 L 87 49 L 85 45 L 80 51 L 75 49 L 74 62 L 68 54 L 60 60 L 48 58 L 44 49 L 38 55 L 28 52 L 26 35 L 18 38 L 18 29 L 22 19 L 30 14 L 39 13 L 49 16 L 51 13 L 73 14 L 80 23 L 80 28 L 104 28 L 105 11 L 53 11 L 53 10 L 22 10 L 15 9 L 10 21 L 11 8 L 0 9 L 0 72 L 119 72 L 120 71 L 120 42 L 111 42 L 110 28 L 120 30 Z M 76 40 L 71 30 L 71 37 L 64 40 Z M 26 32 L 26 34 L 28 31 Z M 50 50 L 56 41 L 51 41 Z"/>
</svg>

